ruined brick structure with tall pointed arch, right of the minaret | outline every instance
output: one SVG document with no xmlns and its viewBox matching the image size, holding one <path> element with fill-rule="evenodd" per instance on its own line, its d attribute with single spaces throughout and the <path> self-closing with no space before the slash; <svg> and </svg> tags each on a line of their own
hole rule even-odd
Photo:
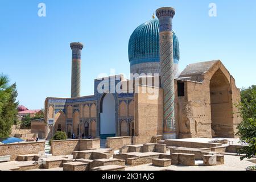
<svg viewBox="0 0 256 182">
<path fill-rule="evenodd" d="M 240 101 L 234 78 L 217 61 L 200 80 L 184 81 L 185 96 L 177 98 L 179 138 L 234 137 L 241 122 L 234 114 L 234 104 Z"/>
</svg>

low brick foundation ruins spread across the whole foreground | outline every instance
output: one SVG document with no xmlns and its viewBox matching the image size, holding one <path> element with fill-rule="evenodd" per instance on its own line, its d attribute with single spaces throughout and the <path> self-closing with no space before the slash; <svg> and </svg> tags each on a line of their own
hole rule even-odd
<svg viewBox="0 0 256 182">
<path fill-rule="evenodd" d="M 113 148 L 101 148 L 100 139 L 52 141 L 51 155 L 48 156 L 39 152 L 43 150 L 44 142 L 1 144 L 0 171 L 121 171 L 145 164 L 159 169 L 171 166 L 217 166 L 225 164 L 225 155 L 242 147 L 221 142 L 182 140 L 133 145 L 129 137 L 124 140 L 111 137 L 107 141 L 106 146 Z"/>
</svg>

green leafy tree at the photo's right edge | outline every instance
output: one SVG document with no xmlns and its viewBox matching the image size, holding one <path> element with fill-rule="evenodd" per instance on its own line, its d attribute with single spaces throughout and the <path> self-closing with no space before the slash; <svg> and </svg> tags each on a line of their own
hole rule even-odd
<svg viewBox="0 0 256 182">
<path fill-rule="evenodd" d="M 237 135 L 241 143 L 247 143 L 238 153 L 245 154 L 243 159 L 256 155 L 256 86 L 241 90 L 241 103 L 238 105 L 242 122 L 238 125 Z"/>
</svg>

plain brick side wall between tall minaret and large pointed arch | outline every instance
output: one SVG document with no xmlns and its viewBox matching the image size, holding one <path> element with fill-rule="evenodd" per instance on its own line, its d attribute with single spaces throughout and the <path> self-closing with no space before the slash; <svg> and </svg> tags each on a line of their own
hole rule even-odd
<svg viewBox="0 0 256 182">
<path fill-rule="evenodd" d="M 179 138 L 211 138 L 209 86 L 184 81 L 184 96 L 177 97 L 175 110 Z"/>
</svg>

